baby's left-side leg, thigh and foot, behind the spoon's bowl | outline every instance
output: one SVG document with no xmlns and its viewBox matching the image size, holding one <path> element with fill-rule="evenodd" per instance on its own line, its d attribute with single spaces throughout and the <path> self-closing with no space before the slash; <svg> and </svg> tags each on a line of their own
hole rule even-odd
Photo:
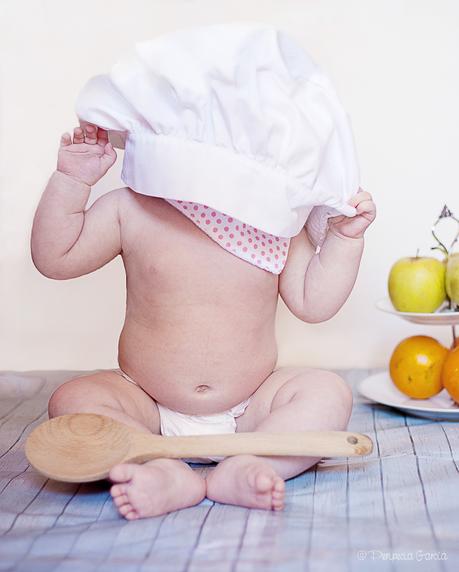
<svg viewBox="0 0 459 572">
<path fill-rule="evenodd" d="M 155 401 L 114 371 L 72 379 L 53 393 L 49 417 L 67 413 L 100 413 L 145 433 L 160 432 Z M 122 463 L 110 471 L 110 489 L 122 516 L 156 516 L 199 503 L 205 480 L 177 459 L 155 459 L 143 465 Z"/>
</svg>

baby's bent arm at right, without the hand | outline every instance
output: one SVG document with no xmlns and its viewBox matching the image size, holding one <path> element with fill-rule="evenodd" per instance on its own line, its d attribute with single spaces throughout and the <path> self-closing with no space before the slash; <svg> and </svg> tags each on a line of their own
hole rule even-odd
<svg viewBox="0 0 459 572">
<path fill-rule="evenodd" d="M 279 293 L 290 311 L 311 323 L 333 317 L 355 284 L 363 246 L 363 237 L 349 238 L 330 229 L 315 253 L 303 228 L 291 239 L 279 277 Z"/>
</svg>

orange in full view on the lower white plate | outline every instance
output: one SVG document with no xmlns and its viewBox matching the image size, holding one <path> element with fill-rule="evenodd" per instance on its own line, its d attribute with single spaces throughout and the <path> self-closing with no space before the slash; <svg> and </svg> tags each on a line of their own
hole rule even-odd
<svg viewBox="0 0 459 572">
<path fill-rule="evenodd" d="M 443 389 L 441 374 L 447 355 L 448 350 L 435 338 L 405 338 L 392 352 L 389 365 L 391 379 L 409 397 L 432 397 Z"/>
</svg>

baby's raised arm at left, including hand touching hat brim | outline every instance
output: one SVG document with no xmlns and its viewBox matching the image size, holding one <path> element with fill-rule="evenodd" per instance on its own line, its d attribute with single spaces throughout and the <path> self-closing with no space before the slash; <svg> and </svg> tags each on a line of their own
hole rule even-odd
<svg viewBox="0 0 459 572">
<path fill-rule="evenodd" d="M 92 128 L 91 128 L 92 127 Z M 119 191 L 84 211 L 91 186 L 113 165 L 116 154 L 106 132 L 88 126 L 61 140 L 57 170 L 35 213 L 31 249 L 37 269 L 63 280 L 100 268 L 121 252 Z"/>
</svg>

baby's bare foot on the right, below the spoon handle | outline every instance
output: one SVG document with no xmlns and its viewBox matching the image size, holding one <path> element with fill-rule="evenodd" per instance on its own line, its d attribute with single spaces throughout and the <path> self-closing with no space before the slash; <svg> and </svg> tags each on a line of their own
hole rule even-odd
<svg viewBox="0 0 459 572">
<path fill-rule="evenodd" d="M 269 463 L 253 455 L 222 461 L 207 477 L 207 496 L 249 508 L 282 510 L 285 483 Z"/>
</svg>

